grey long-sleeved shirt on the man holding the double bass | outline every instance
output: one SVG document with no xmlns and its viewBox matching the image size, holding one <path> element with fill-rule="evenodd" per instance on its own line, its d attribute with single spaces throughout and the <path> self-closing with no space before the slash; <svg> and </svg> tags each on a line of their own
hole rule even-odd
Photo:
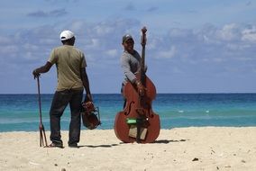
<svg viewBox="0 0 256 171">
<path fill-rule="evenodd" d="M 121 57 L 121 67 L 123 69 L 124 85 L 127 83 L 127 81 L 132 83 L 135 82 L 135 74 L 139 71 L 140 66 L 141 56 L 136 50 L 133 51 L 133 54 L 130 54 L 127 51 L 123 51 L 123 55 Z"/>
</svg>

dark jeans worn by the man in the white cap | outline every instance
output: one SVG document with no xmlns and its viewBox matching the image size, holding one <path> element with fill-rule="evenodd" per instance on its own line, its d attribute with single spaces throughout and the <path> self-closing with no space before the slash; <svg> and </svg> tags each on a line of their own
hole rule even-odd
<svg viewBox="0 0 256 171">
<path fill-rule="evenodd" d="M 64 90 L 55 92 L 50 107 L 50 140 L 61 143 L 60 117 L 69 104 L 71 120 L 69 123 L 69 144 L 78 143 L 80 139 L 81 117 L 80 105 L 83 99 L 83 90 Z"/>
</svg>

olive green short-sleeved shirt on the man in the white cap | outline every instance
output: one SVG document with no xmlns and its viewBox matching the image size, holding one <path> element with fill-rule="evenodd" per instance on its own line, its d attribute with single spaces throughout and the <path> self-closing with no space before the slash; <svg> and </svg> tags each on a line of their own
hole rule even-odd
<svg viewBox="0 0 256 171">
<path fill-rule="evenodd" d="M 87 67 L 85 55 L 74 46 L 63 45 L 52 49 L 48 61 L 56 64 L 58 85 L 56 91 L 84 89 L 81 80 L 81 67 Z"/>
</svg>

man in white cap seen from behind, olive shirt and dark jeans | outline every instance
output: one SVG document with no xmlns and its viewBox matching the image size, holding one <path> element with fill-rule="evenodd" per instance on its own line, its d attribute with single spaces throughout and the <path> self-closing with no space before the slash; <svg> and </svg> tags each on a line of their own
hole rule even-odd
<svg viewBox="0 0 256 171">
<path fill-rule="evenodd" d="M 50 148 L 63 148 L 60 135 L 60 117 L 69 104 L 71 120 L 69 123 L 69 147 L 78 148 L 81 129 L 80 105 L 83 91 L 86 89 L 85 101 L 92 101 L 87 77 L 87 62 L 84 53 L 75 48 L 75 35 L 72 31 L 60 33 L 62 46 L 52 49 L 50 58 L 42 67 L 32 71 L 34 77 L 46 73 L 56 64 L 58 85 L 50 106 Z"/>
</svg>

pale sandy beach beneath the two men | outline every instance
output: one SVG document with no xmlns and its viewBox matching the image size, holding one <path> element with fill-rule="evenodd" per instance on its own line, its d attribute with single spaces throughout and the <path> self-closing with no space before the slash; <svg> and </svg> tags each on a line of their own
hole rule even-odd
<svg viewBox="0 0 256 171">
<path fill-rule="evenodd" d="M 68 147 L 68 131 L 61 134 L 65 148 L 41 148 L 38 131 L 0 133 L 0 170 L 256 170 L 256 127 L 160 130 L 151 144 L 82 130 L 79 148 Z"/>
</svg>

